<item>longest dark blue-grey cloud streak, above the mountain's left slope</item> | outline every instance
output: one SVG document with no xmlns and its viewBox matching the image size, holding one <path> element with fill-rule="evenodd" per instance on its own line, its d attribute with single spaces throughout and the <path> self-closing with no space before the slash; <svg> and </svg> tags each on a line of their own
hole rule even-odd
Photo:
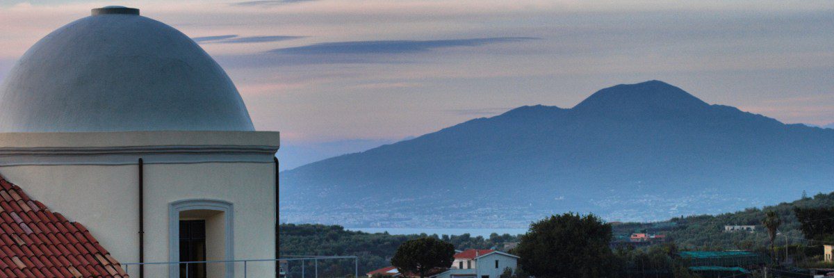
<svg viewBox="0 0 834 278">
<path fill-rule="evenodd" d="M 391 41 L 355 41 L 335 43 L 315 43 L 294 48 L 278 48 L 270 52 L 279 54 L 378 54 L 378 53 L 417 53 L 435 48 L 475 47 L 490 43 L 510 43 L 537 38 L 459 38 L 439 40 L 391 40 Z"/>
</svg>

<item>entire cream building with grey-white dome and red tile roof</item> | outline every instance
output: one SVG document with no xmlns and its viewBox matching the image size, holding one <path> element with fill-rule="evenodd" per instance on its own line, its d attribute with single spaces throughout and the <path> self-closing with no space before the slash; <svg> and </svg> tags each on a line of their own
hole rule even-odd
<svg viewBox="0 0 834 278">
<path fill-rule="evenodd" d="M 278 147 L 188 36 L 138 9 L 93 9 L 33 45 L 0 85 L 6 270 L 120 277 L 126 262 L 274 258 Z M 128 274 L 181 270 L 138 268 Z M 243 275 L 241 264 L 189 271 Z"/>
</svg>

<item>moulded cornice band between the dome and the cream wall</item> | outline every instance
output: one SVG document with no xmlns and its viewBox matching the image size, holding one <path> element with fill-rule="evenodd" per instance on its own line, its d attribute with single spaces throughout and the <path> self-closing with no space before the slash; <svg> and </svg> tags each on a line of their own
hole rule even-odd
<svg viewBox="0 0 834 278">
<path fill-rule="evenodd" d="M 279 144 L 278 132 L 264 131 L 0 133 L 0 166 L 271 163 Z"/>
</svg>

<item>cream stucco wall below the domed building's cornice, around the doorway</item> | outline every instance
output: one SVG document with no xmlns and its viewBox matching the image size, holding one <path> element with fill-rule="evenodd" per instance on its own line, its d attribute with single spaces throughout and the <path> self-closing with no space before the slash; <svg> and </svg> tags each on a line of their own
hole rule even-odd
<svg viewBox="0 0 834 278">
<path fill-rule="evenodd" d="M 138 262 L 138 165 L 19 165 L 0 167 L 0 174 L 86 226 L 117 260 Z M 274 258 L 274 164 L 145 164 L 144 188 L 145 261 L 168 261 L 168 204 L 187 199 L 234 204 L 235 260 Z M 168 275 L 161 265 L 145 271 Z M 248 271 L 266 277 L 274 264 L 253 263 Z"/>
</svg>

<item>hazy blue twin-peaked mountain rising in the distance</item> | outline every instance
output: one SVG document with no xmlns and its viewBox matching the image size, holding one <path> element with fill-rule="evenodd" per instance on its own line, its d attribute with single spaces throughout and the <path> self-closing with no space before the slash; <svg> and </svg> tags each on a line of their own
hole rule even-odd
<svg viewBox="0 0 834 278">
<path fill-rule="evenodd" d="M 284 171 L 279 202 L 283 222 L 354 227 L 525 227 L 569 210 L 662 220 L 830 191 L 832 154 L 832 129 L 649 81 Z"/>
</svg>

